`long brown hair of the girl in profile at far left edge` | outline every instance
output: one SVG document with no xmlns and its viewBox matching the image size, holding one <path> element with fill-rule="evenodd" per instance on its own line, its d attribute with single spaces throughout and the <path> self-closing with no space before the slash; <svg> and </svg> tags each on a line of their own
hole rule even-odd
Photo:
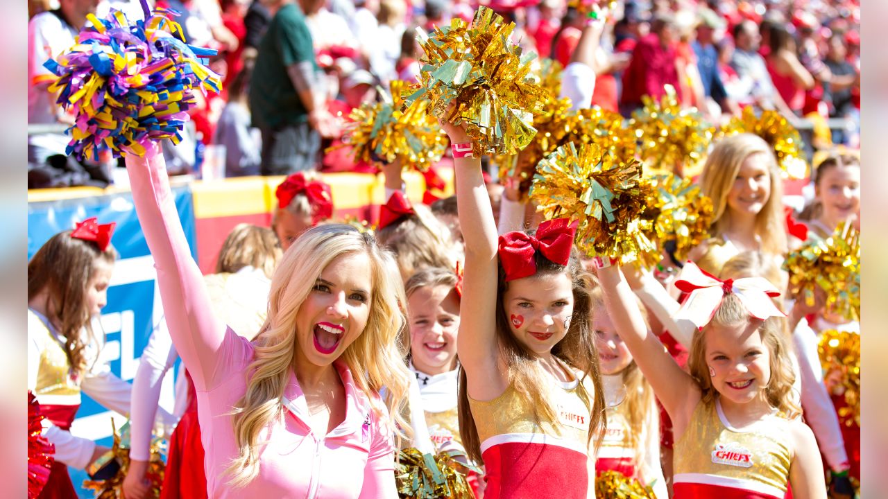
<svg viewBox="0 0 888 499">
<path fill-rule="evenodd" d="M 102 251 L 95 242 L 71 237 L 71 232 L 53 235 L 31 257 L 28 301 L 47 290 L 47 319 L 58 322 L 59 334 L 65 338 L 71 374 L 78 376 L 89 368 L 87 345 L 96 343 L 91 311 L 86 304 L 86 287 L 96 271 L 96 260 L 101 258 L 113 265 L 117 252 L 110 244 Z"/>
</svg>

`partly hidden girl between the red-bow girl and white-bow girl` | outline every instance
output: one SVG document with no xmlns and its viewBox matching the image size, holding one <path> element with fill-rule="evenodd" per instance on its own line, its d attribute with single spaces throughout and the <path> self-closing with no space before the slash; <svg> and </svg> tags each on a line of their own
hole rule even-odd
<svg viewBox="0 0 888 499">
<path fill-rule="evenodd" d="M 666 499 L 660 466 L 660 421 L 654 391 L 610 320 L 600 288 L 592 289 L 592 330 L 599 350 L 601 382 L 607 402 L 607 432 L 601 441 L 596 471 L 618 471 L 654 495 Z M 638 309 L 646 315 L 644 305 Z"/>
</svg>

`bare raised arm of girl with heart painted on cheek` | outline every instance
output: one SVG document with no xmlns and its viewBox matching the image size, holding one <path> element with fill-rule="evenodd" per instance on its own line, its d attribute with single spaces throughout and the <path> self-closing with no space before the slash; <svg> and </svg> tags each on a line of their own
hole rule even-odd
<svg viewBox="0 0 888 499">
<path fill-rule="evenodd" d="M 496 343 L 496 248 L 498 235 L 481 162 L 471 154 L 464 129 L 441 121 L 454 149 L 456 206 L 465 241 L 463 299 L 457 352 L 468 375 L 469 396 L 492 400 L 506 388 Z"/>
</svg>

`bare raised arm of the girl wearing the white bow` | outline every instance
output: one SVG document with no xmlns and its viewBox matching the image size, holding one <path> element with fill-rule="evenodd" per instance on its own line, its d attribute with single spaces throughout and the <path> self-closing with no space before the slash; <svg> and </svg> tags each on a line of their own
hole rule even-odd
<svg viewBox="0 0 888 499">
<path fill-rule="evenodd" d="M 700 388 L 694 378 L 678 367 L 660 339 L 647 330 L 638 302 L 623 279 L 620 267 L 616 264 L 605 266 L 599 268 L 598 273 L 607 313 L 614 321 L 617 333 L 629 347 L 638 368 L 654 388 L 673 424 L 684 427 L 700 401 Z"/>
</svg>

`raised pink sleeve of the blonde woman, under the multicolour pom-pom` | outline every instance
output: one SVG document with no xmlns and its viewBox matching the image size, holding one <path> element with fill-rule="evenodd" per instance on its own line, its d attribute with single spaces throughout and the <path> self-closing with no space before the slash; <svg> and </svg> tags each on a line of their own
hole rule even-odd
<svg viewBox="0 0 888 499">
<path fill-rule="evenodd" d="M 132 199 L 155 258 L 157 284 L 173 345 L 185 362 L 195 388 L 206 391 L 218 376 L 226 325 L 212 313 L 203 276 L 191 252 L 170 192 L 163 154 L 156 144 L 144 158 L 126 156 Z"/>
</svg>

